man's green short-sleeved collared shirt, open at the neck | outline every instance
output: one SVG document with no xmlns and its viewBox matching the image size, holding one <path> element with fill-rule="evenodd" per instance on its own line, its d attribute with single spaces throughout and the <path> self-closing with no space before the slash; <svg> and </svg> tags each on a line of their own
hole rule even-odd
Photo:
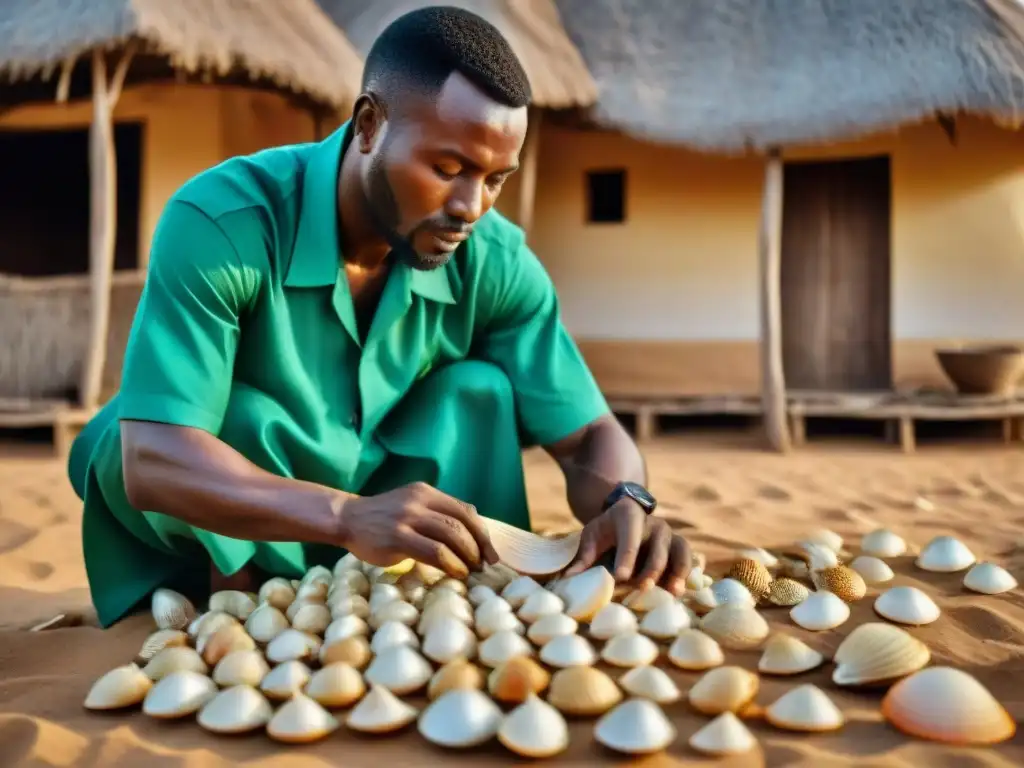
<svg viewBox="0 0 1024 768">
<path fill-rule="evenodd" d="M 119 417 L 207 430 L 266 470 L 354 493 L 386 458 L 382 419 L 450 361 L 507 374 L 526 443 L 605 414 L 549 275 L 494 210 L 444 267 L 395 265 L 360 342 L 338 237 L 350 139 L 346 123 L 319 143 L 233 158 L 173 196 L 154 234 Z"/>
</svg>

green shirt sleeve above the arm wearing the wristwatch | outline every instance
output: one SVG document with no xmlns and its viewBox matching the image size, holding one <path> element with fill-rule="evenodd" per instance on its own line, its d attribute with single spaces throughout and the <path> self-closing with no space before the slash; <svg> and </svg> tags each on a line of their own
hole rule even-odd
<svg viewBox="0 0 1024 768">
<path fill-rule="evenodd" d="M 486 271 L 486 322 L 477 354 L 511 380 L 527 442 L 549 445 L 608 413 L 537 255 L 520 242 Z"/>
</svg>

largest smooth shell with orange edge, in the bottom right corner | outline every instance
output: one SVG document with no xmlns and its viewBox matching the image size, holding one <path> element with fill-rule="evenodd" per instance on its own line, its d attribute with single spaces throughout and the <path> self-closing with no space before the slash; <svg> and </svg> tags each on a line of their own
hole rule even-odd
<svg viewBox="0 0 1024 768">
<path fill-rule="evenodd" d="M 951 667 L 930 667 L 900 680 L 882 699 L 882 715 L 904 733 L 949 744 L 994 744 L 1017 731 L 985 686 Z"/>
</svg>

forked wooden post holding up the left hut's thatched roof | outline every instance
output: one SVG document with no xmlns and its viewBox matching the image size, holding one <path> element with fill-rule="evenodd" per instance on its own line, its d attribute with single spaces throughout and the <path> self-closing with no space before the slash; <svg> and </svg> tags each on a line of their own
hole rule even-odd
<svg viewBox="0 0 1024 768">
<path fill-rule="evenodd" d="M 80 406 L 99 404 L 111 325 L 111 284 L 117 237 L 117 155 L 114 106 L 134 47 L 126 47 L 110 82 L 100 50 L 92 52 L 92 124 L 89 126 L 89 345 L 82 367 Z"/>
</svg>

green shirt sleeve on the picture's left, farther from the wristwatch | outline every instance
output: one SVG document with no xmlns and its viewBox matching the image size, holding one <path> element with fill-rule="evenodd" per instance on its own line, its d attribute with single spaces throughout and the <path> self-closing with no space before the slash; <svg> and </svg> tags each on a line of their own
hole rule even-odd
<svg viewBox="0 0 1024 768">
<path fill-rule="evenodd" d="M 167 205 L 125 349 L 121 419 L 219 432 L 253 284 L 216 221 Z"/>
</svg>

